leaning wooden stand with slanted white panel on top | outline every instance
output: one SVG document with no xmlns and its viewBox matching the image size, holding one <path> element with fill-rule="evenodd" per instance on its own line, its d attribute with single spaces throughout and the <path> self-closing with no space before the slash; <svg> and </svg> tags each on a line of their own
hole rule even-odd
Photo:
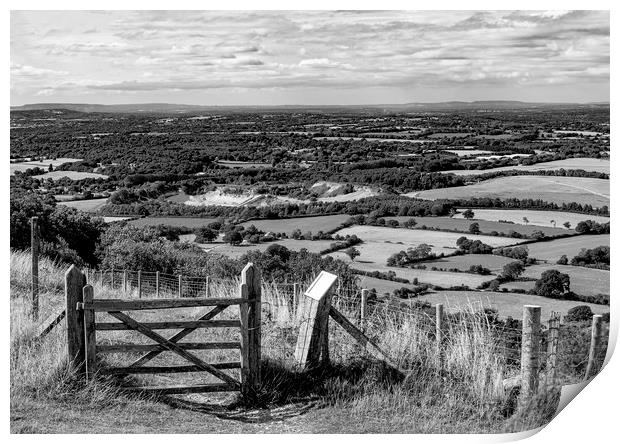
<svg viewBox="0 0 620 444">
<path fill-rule="evenodd" d="M 328 319 L 331 299 L 338 276 L 321 271 L 303 295 L 301 325 L 295 347 L 295 362 L 302 369 L 326 363 Z M 300 301 L 301 302 L 301 301 Z M 319 359 L 322 356 L 322 362 Z"/>
</svg>

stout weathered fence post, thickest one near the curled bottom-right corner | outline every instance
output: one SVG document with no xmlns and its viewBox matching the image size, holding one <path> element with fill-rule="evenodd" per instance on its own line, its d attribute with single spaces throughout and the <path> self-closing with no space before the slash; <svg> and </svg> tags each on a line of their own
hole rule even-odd
<svg viewBox="0 0 620 444">
<path fill-rule="evenodd" d="M 523 306 L 520 400 L 522 405 L 525 405 L 538 390 L 540 311 L 541 308 L 538 305 Z"/>
</svg>

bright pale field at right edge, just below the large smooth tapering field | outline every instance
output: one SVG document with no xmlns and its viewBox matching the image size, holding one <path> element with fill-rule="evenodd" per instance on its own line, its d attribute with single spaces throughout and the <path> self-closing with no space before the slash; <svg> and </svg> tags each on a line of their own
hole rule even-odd
<svg viewBox="0 0 620 444">
<path fill-rule="evenodd" d="M 458 213 L 453 216 L 454 219 L 463 219 L 463 211 L 465 208 L 459 208 Z M 485 208 L 473 208 L 474 219 L 480 224 L 482 228 L 482 220 L 484 221 L 510 221 L 514 222 L 513 228 L 519 233 L 531 232 L 533 230 L 542 230 L 547 233 L 566 233 L 564 227 L 565 222 L 569 222 L 572 229 L 583 220 L 593 220 L 598 223 L 609 222 L 609 218 L 605 216 L 594 216 L 590 214 L 569 213 L 567 211 L 543 211 L 543 210 L 520 210 L 520 209 L 507 209 L 501 210 L 485 209 Z M 527 224 L 523 218 L 527 218 Z M 552 222 L 555 221 L 555 222 Z M 505 224 L 504 224 L 505 225 Z M 553 228 L 553 231 L 543 230 L 540 227 Z M 557 228 L 554 228 L 557 227 Z M 528 230 L 528 231 L 522 231 Z M 531 230 L 531 231 L 530 231 Z M 564 231 L 562 231 L 564 230 Z M 486 230 L 483 230 L 486 231 Z M 502 231 L 502 230 L 497 230 Z"/>
</svg>

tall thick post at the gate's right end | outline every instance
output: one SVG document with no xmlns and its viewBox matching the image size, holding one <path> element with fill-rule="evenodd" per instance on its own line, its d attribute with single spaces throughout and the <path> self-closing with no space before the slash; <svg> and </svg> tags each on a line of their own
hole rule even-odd
<svg viewBox="0 0 620 444">
<path fill-rule="evenodd" d="M 239 293 L 239 297 L 247 301 L 239 305 L 241 390 L 244 395 L 252 395 L 261 380 L 261 275 L 251 262 L 241 271 Z"/>
</svg>

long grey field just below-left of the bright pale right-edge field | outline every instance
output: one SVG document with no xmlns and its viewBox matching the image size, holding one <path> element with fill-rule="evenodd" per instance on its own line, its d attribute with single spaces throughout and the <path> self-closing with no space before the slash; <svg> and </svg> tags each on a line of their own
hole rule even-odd
<svg viewBox="0 0 620 444">
<path fill-rule="evenodd" d="M 478 213 L 480 210 L 474 208 L 474 220 L 463 219 L 461 214 L 457 214 L 454 217 L 410 217 L 410 216 L 399 216 L 399 217 L 386 217 L 385 220 L 397 220 L 399 223 L 404 223 L 409 219 L 415 219 L 418 223 L 416 228 L 420 228 L 423 225 L 427 227 L 437 228 L 440 230 L 460 230 L 460 231 L 468 231 L 469 226 L 476 222 L 480 226 L 480 231 L 483 233 L 490 233 L 491 231 L 497 231 L 498 233 L 506 233 L 508 234 L 511 230 L 516 231 L 517 233 L 521 233 L 523 235 L 529 236 L 534 231 L 542 231 L 547 236 L 557 236 L 561 234 L 566 234 L 568 231 L 565 228 L 562 228 L 561 225 L 559 228 L 553 227 L 541 227 L 536 225 L 520 225 L 520 224 L 509 224 L 503 222 L 494 222 L 490 220 L 481 220 L 484 219 L 478 217 Z M 491 210 L 495 211 L 495 210 Z M 499 210 L 497 210 L 499 211 Z M 515 213 L 518 210 L 513 210 Z M 519 212 L 520 213 L 520 212 Z M 508 219 L 506 219 L 508 220 Z"/>
</svg>

